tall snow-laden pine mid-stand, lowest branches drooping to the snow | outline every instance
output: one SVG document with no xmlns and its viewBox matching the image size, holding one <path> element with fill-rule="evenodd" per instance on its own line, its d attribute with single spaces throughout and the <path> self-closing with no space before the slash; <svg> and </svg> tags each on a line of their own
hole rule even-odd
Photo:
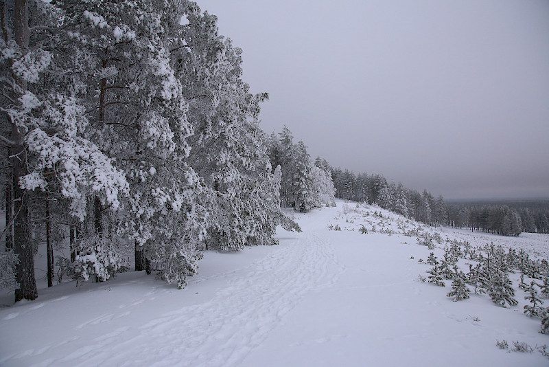
<svg viewBox="0 0 549 367">
<path fill-rule="evenodd" d="M 189 29 L 182 24 L 183 12 L 191 12 L 194 5 L 188 1 L 141 1 L 132 6 L 67 1 L 58 6 L 65 12 L 65 27 L 71 35 L 66 53 L 78 65 L 71 75 L 91 86 L 75 89 L 90 111 L 94 129 L 90 136 L 103 152 L 116 157 L 130 179 L 128 216 L 120 223 L 110 219 L 109 230 L 130 234 L 136 250 L 145 243 L 152 245 L 154 239 L 159 248 L 150 249 L 150 257 L 170 259 L 157 267 L 170 269 L 167 273 L 178 268 L 183 279 L 189 269 L 196 268 L 196 245 L 203 236 L 200 223 L 205 216 L 196 205 L 199 179 L 185 163 L 192 126 L 173 68 L 174 55 L 185 43 L 182 32 Z M 104 203 L 99 199 L 94 205 L 103 214 L 95 216 L 96 223 L 104 221 Z M 84 256 L 97 252 L 95 244 L 113 238 L 112 232 L 104 231 L 81 249 Z M 180 265 L 174 267 L 174 259 Z M 77 262 L 89 260 L 77 256 Z M 177 278 L 167 273 L 165 279 Z M 177 282 L 183 285 L 184 280 Z"/>
</svg>

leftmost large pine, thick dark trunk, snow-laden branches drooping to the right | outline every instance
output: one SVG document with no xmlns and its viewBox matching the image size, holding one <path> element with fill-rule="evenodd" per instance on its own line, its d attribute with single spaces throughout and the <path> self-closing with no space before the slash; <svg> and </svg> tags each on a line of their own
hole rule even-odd
<svg viewBox="0 0 549 367">
<path fill-rule="evenodd" d="M 14 82 L 8 83 L 12 87 L 17 80 L 22 80 L 25 85 L 24 90 L 18 89 L 21 104 L 14 103 L 17 98 L 12 98 L 12 102 L 3 105 L 3 108 L 8 116 L 12 116 L 13 126 L 17 126 L 16 133 L 19 135 L 12 140 L 21 142 L 19 147 L 24 148 L 25 155 L 28 154 L 28 159 L 18 159 L 14 166 L 17 170 L 17 175 L 14 175 L 16 186 L 27 196 L 27 201 L 16 200 L 23 203 L 23 208 L 16 210 L 21 215 L 14 224 L 17 238 L 27 243 L 28 221 L 24 219 L 24 225 L 18 224 L 18 221 L 28 215 L 27 203 L 32 190 L 47 190 L 49 197 L 54 195 L 56 199 L 69 199 L 71 205 L 67 214 L 84 220 L 89 196 L 114 211 L 119 208 L 121 198 L 128 194 L 128 184 L 121 170 L 96 144 L 96 126 L 90 120 L 90 114 L 86 113 L 85 99 L 82 98 L 83 91 L 88 87 L 86 78 L 93 71 L 85 69 L 80 73 L 79 68 L 85 68 L 88 64 L 81 63 L 79 57 L 86 54 L 85 50 L 91 45 L 71 47 L 75 43 L 82 46 L 82 42 L 75 41 L 78 37 L 73 37 L 71 33 L 71 15 L 54 9 L 54 5 L 41 1 L 30 4 L 17 1 L 16 6 L 21 7 L 20 11 L 10 13 L 17 16 L 24 14 L 25 19 L 27 8 L 32 6 L 32 21 L 36 25 L 32 32 L 25 22 L 20 24 L 21 27 L 14 28 L 16 32 L 23 30 L 27 34 L 23 48 L 9 41 L 19 36 L 10 36 L 8 28 L 3 29 L 5 34 L 3 41 L 0 41 L 5 56 L 2 62 L 10 65 L 2 70 L 12 69 L 5 80 L 14 78 Z M 62 27 L 61 19 L 65 22 Z M 6 39 L 8 43 L 5 43 Z M 71 51 L 67 52 L 67 49 Z M 67 69 L 73 72 L 67 73 Z M 44 78 L 46 74 L 47 78 Z M 82 75 L 85 75 L 84 78 Z M 5 91 L 4 95 L 9 94 L 10 91 Z M 29 164 L 23 167 L 19 164 L 21 162 Z M 101 226 L 100 221 L 96 219 L 95 222 Z M 27 229 L 23 230 L 23 227 Z M 25 245 L 25 248 L 31 249 L 32 246 Z M 22 287 L 16 291 L 16 299 L 32 299 L 36 297 L 36 291 L 32 291 L 32 255 L 21 255 L 21 267 L 32 276 L 29 274 L 20 282 Z"/>
</svg>

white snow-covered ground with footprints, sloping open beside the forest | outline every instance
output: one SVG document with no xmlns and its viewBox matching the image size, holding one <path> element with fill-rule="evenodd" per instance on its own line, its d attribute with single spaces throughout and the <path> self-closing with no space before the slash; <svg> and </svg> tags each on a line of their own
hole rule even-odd
<svg viewBox="0 0 549 367">
<path fill-rule="evenodd" d="M 539 319 L 522 313 L 521 290 L 520 303 L 503 309 L 485 295 L 452 302 L 449 287 L 419 282 L 429 265 L 418 259 L 443 253 L 401 234 L 421 225 L 342 202 L 296 219 L 303 232 L 280 230 L 279 246 L 207 252 L 187 289 L 130 272 L 79 287 L 67 282 L 0 309 L 0 366 L 549 364 L 537 351 L 495 346 L 549 344 L 537 333 Z M 341 230 L 329 230 L 335 225 Z M 547 235 L 424 230 L 548 258 Z"/>
</svg>

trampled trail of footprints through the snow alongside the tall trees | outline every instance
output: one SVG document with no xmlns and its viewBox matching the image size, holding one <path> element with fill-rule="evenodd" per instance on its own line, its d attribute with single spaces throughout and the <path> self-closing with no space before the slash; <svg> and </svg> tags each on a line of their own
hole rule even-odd
<svg viewBox="0 0 549 367">
<path fill-rule="evenodd" d="M 129 339 L 123 338 L 128 328 L 96 337 L 52 365 L 235 366 L 307 292 L 334 285 L 343 269 L 329 240 L 302 233 L 296 243 L 258 260 L 209 302 L 152 318 Z M 112 318 L 102 315 L 77 329 Z"/>
</svg>

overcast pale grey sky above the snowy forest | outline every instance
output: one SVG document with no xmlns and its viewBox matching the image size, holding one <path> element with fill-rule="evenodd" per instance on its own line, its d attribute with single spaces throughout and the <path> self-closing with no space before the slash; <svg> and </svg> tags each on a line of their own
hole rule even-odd
<svg viewBox="0 0 549 367">
<path fill-rule="evenodd" d="M 198 0 L 261 126 L 447 199 L 549 197 L 549 1 Z"/>
</svg>

